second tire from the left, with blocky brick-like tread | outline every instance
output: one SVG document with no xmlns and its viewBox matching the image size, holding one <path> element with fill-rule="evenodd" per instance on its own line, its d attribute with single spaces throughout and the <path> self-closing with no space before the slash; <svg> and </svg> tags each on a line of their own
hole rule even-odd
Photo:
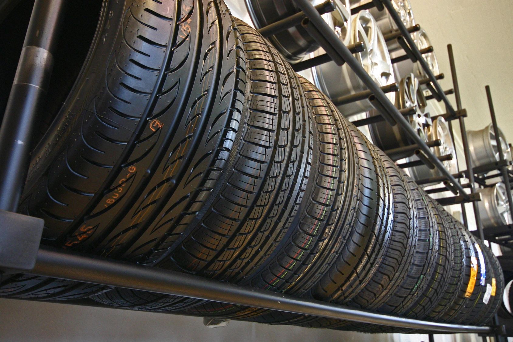
<svg viewBox="0 0 513 342">
<path fill-rule="evenodd" d="M 254 278 L 253 274 L 265 277 L 264 265 L 287 235 L 302 203 L 315 143 L 310 107 L 295 73 L 252 28 L 240 21 L 234 28 L 240 32 L 241 54 L 247 58 L 242 140 L 233 166 L 223 170 L 227 181 L 218 198 L 199 208 L 190 232 L 184 233 L 176 249 L 171 246 L 159 267 L 239 283 Z M 96 298 L 106 302 L 109 296 Z M 158 299 L 147 306 L 184 309 L 161 306 Z M 194 300 L 189 306 L 202 303 Z M 210 303 L 206 306 L 210 314 L 218 311 Z M 219 311 L 228 310 L 225 304 L 219 306 Z"/>
</svg>

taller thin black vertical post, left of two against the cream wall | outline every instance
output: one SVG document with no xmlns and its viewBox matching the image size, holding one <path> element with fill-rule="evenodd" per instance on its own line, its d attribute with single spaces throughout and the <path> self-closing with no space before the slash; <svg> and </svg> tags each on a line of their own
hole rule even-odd
<svg viewBox="0 0 513 342">
<path fill-rule="evenodd" d="M 452 53 L 452 45 L 447 45 L 447 52 L 449 54 L 449 64 L 450 64 L 450 72 L 452 76 L 452 85 L 454 88 L 454 93 L 456 97 L 456 107 L 458 110 L 461 109 L 461 97 L 460 97 L 460 87 L 458 85 L 458 75 L 456 74 L 456 64 L 454 61 L 454 54 Z M 465 153 L 465 162 L 467 165 L 467 178 L 470 183 L 469 189 L 470 194 L 476 192 L 475 182 L 474 182 L 474 172 L 472 168 L 472 160 L 470 159 L 470 148 L 468 147 L 468 139 L 467 139 L 467 130 L 465 128 L 465 119 L 463 117 L 459 117 L 458 121 L 460 123 L 460 131 L 461 131 L 461 142 L 463 143 L 463 151 Z M 474 209 L 474 216 L 476 218 L 476 225 L 478 228 L 479 238 L 484 241 L 483 234 L 483 225 L 481 224 L 481 217 L 479 215 L 478 203 L 476 201 L 472 202 L 472 206 Z M 463 210 L 462 210 L 463 213 Z M 465 211 L 466 214 L 466 211 Z"/>
</svg>

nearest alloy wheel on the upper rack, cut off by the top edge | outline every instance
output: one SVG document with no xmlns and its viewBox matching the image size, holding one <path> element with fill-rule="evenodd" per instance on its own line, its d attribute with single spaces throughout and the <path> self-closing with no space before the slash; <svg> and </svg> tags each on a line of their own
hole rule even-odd
<svg viewBox="0 0 513 342">
<path fill-rule="evenodd" d="M 323 0 L 310 0 L 312 5 L 322 4 Z M 290 0 L 245 0 L 251 21 L 255 28 L 260 29 L 275 23 L 289 15 L 299 12 L 293 1 Z M 351 12 L 349 0 L 333 0 L 335 10 L 323 14 L 322 17 L 344 44 L 349 42 L 348 29 L 351 26 Z M 301 61 L 310 52 L 319 48 L 319 44 L 301 27 L 291 27 L 268 37 L 272 45 L 290 63 Z"/>
</svg>

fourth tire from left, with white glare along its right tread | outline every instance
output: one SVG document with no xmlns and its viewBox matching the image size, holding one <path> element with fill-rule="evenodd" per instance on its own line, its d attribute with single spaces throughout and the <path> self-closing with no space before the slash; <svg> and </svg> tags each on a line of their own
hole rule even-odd
<svg viewBox="0 0 513 342">
<path fill-rule="evenodd" d="M 308 291 L 303 292 L 304 296 L 309 298 L 343 303 L 358 293 L 376 272 L 377 263 L 383 253 L 382 245 L 390 234 L 392 198 L 390 181 L 384 164 L 377 157 L 377 151 L 356 127 L 345 121 L 340 113 L 337 112 L 337 115 L 342 122 L 345 122 L 349 136 L 352 137 L 353 147 L 356 148 L 353 161 L 348 159 L 348 165 L 356 166 L 354 171 L 357 175 L 356 177 L 348 175 L 348 179 L 354 178 L 356 182 L 352 191 L 345 196 L 351 201 L 358 198 L 360 200 L 346 206 L 349 213 L 344 215 L 343 224 L 350 227 L 348 233 L 346 236 L 339 237 L 341 243 L 328 250 L 326 255 L 330 255 L 331 260 L 324 264 L 325 271 L 318 270 L 318 275 L 305 288 Z M 372 188 L 376 190 L 374 194 L 369 194 L 368 191 Z M 354 194 L 359 194 L 359 197 Z M 369 210 L 369 205 L 377 208 L 373 216 L 369 216 L 366 212 Z M 331 282 L 330 284 L 326 281 L 327 279 Z M 317 326 L 318 319 L 281 312 L 269 312 L 250 318 L 252 321 L 270 324 L 294 324 L 305 327 Z"/>
</svg>

